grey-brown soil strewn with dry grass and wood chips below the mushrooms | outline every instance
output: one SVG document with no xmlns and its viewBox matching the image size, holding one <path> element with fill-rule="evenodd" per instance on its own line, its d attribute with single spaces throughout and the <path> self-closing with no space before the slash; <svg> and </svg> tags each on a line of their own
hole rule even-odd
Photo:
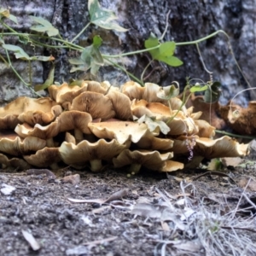
<svg viewBox="0 0 256 256">
<path fill-rule="evenodd" d="M 253 155 L 243 162 L 224 175 L 2 170 L 0 254 L 256 255 Z M 63 182 L 74 174 L 80 180 Z"/>
</svg>

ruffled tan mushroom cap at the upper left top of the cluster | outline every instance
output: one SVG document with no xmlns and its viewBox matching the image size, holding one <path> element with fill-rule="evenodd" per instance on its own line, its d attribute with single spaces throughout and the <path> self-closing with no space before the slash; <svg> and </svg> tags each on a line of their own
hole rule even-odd
<svg viewBox="0 0 256 256">
<path fill-rule="evenodd" d="M 84 81 L 81 86 L 68 85 L 67 83 L 61 84 L 61 86 L 50 85 L 48 87 L 49 96 L 57 103 L 73 102 L 76 96 L 79 96 L 82 92 L 87 90 L 87 83 Z"/>
</svg>

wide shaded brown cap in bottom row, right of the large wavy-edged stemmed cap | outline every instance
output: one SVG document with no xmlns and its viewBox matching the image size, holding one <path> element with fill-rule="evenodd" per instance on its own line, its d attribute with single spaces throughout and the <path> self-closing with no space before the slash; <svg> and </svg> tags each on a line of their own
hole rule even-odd
<svg viewBox="0 0 256 256">
<path fill-rule="evenodd" d="M 166 160 L 173 157 L 171 152 L 160 154 L 158 151 L 125 149 L 116 158 L 113 158 L 113 166 L 116 168 L 138 164 L 150 170 L 161 171 L 166 166 Z"/>
</svg>

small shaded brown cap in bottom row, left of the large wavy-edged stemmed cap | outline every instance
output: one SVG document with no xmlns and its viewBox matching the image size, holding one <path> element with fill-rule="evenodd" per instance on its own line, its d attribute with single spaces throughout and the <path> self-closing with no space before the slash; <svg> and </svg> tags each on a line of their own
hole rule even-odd
<svg viewBox="0 0 256 256">
<path fill-rule="evenodd" d="M 23 155 L 23 158 L 32 166 L 48 167 L 61 161 L 59 148 L 42 148 L 36 154 Z"/>
</svg>

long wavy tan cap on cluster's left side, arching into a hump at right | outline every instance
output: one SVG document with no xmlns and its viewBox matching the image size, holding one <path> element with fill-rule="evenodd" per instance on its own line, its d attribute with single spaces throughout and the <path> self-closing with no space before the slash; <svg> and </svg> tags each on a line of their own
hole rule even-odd
<svg viewBox="0 0 256 256">
<path fill-rule="evenodd" d="M 54 122 L 46 126 L 35 125 L 34 127 L 31 127 L 27 124 L 17 125 L 15 132 L 19 134 L 20 137 L 33 136 L 40 137 L 42 139 L 49 139 L 51 137 L 55 137 L 62 131 L 71 131 L 73 129 L 78 129 L 85 134 L 90 134 L 88 123 L 91 122 L 91 120 L 89 113 L 73 110 L 62 112 Z"/>
</svg>

